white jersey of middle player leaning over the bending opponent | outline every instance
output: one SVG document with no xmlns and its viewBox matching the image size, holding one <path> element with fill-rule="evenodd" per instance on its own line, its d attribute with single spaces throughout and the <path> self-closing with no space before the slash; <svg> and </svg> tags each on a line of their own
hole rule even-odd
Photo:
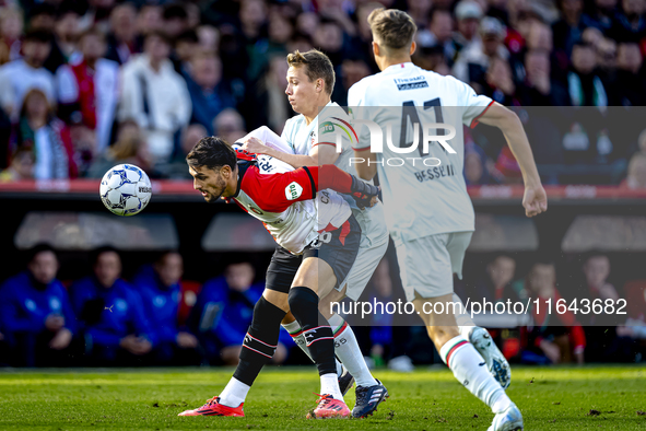
<svg viewBox="0 0 646 431">
<path fill-rule="evenodd" d="M 309 125 L 303 114 L 290 118 L 285 123 L 281 138 L 290 144 L 294 154 L 307 155 L 316 145 L 337 147 L 338 136 L 341 138 L 341 152 L 334 165 L 359 177 L 356 168 L 350 164 L 350 159 L 354 158 L 353 149 L 359 144 L 359 137 L 350 117 L 338 103 L 328 103 Z M 359 210 L 354 199 L 345 197 L 345 200 L 352 209 Z"/>
</svg>

